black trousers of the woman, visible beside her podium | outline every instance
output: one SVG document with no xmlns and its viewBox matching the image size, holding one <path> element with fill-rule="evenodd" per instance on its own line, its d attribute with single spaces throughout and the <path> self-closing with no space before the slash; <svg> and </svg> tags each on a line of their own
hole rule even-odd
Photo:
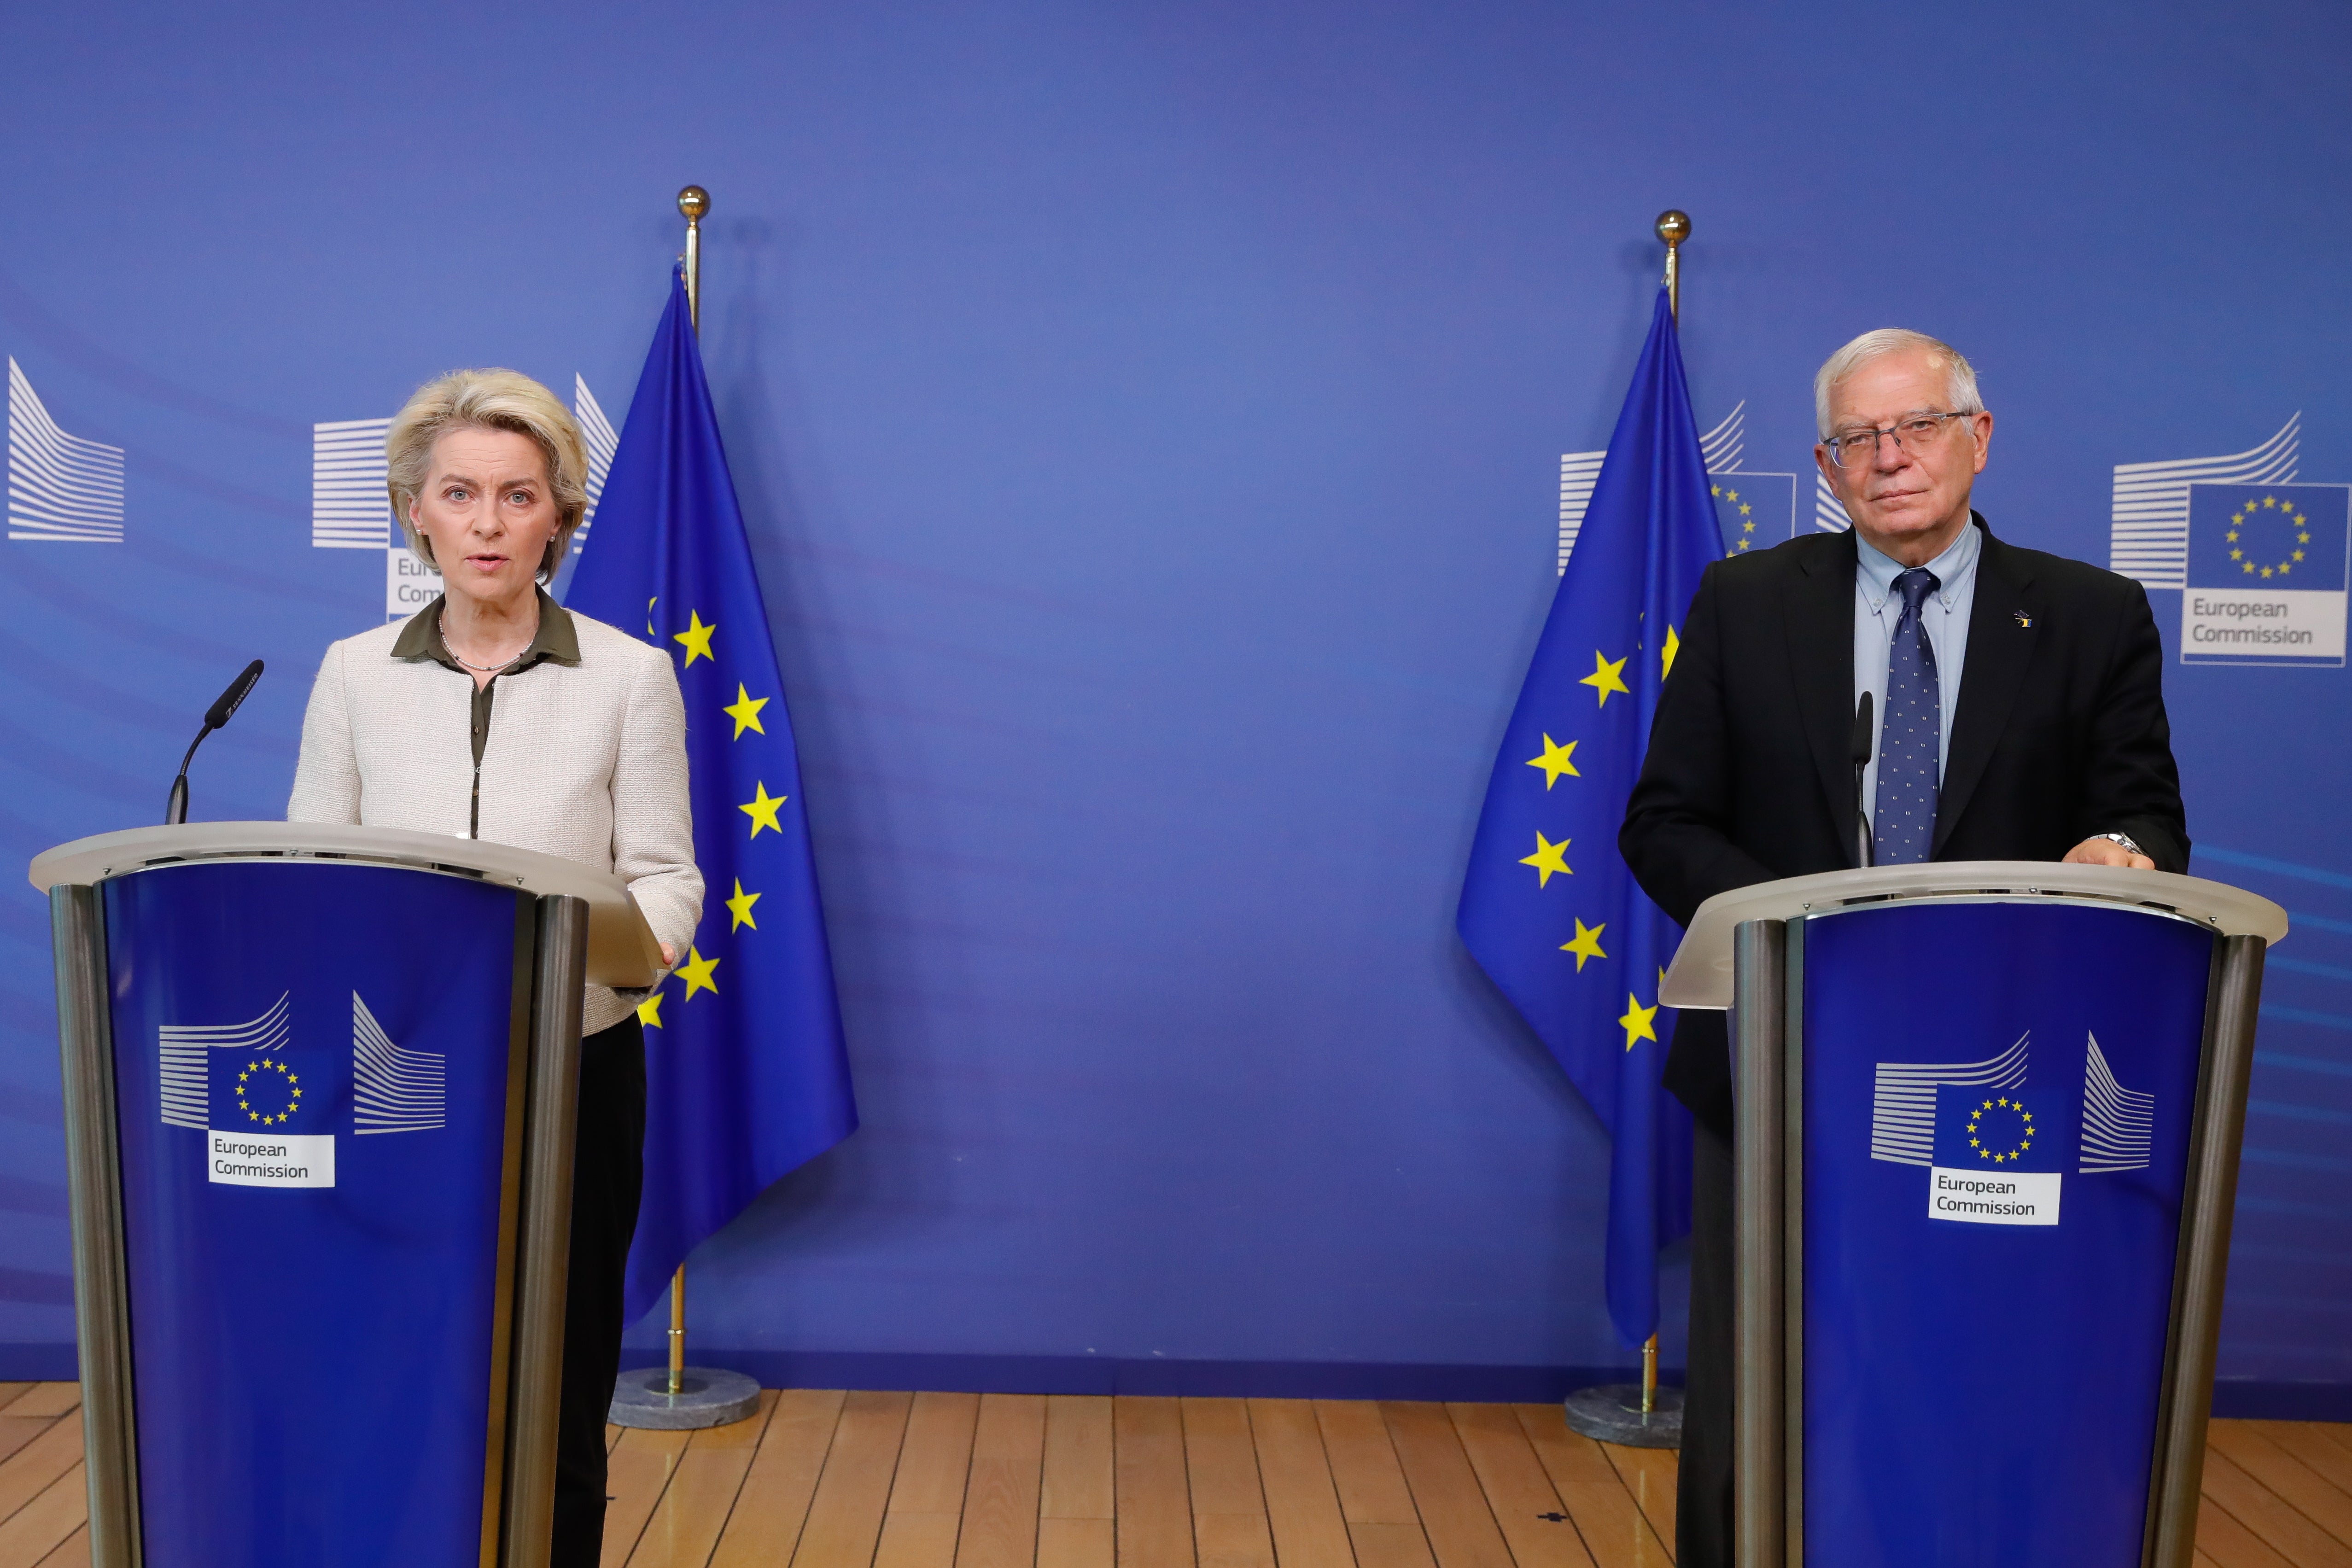
<svg viewBox="0 0 2352 1568">
<path fill-rule="evenodd" d="M 644 1025 L 630 1016 L 581 1041 L 553 1568 L 597 1568 L 604 1552 L 604 1413 L 621 1375 L 621 1279 L 642 1187 Z"/>
</svg>

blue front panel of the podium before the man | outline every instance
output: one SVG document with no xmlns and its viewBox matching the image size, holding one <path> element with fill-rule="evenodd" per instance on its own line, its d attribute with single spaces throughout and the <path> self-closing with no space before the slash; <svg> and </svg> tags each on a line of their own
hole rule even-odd
<svg viewBox="0 0 2352 1568">
<path fill-rule="evenodd" d="M 1806 922 L 1806 1561 L 2138 1568 L 2211 954 L 2114 907 Z"/>
</svg>

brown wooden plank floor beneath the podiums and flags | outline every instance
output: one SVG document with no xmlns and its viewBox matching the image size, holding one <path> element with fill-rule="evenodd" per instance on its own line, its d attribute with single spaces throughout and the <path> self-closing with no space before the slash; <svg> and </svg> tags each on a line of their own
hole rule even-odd
<svg viewBox="0 0 2352 1568">
<path fill-rule="evenodd" d="M 1675 1455 L 1557 1406 L 786 1389 L 612 1429 L 607 1568 L 1635 1568 Z M 2197 1561 L 2352 1568 L 2352 1427 L 2213 1422 Z M 0 1568 L 85 1568 L 71 1382 L 0 1382 Z M 226 1566 L 223 1566 L 226 1568 Z"/>
</svg>

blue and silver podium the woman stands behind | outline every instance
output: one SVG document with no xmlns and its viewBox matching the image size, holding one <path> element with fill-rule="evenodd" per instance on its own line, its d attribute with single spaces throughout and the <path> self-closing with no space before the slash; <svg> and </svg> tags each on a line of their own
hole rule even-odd
<svg viewBox="0 0 2352 1568">
<path fill-rule="evenodd" d="M 49 893 L 94 1568 L 541 1568 L 588 980 L 626 886 L 200 823 Z"/>
</svg>

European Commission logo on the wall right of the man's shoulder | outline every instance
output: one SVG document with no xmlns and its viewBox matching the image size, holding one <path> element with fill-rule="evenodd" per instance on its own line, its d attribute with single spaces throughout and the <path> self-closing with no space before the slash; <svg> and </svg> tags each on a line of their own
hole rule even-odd
<svg viewBox="0 0 2352 1568">
<path fill-rule="evenodd" d="M 2352 484 L 2298 484 L 2303 416 L 2260 447 L 2119 463 L 2107 567 L 2180 590 L 2180 663 L 2343 665 Z"/>
</svg>

